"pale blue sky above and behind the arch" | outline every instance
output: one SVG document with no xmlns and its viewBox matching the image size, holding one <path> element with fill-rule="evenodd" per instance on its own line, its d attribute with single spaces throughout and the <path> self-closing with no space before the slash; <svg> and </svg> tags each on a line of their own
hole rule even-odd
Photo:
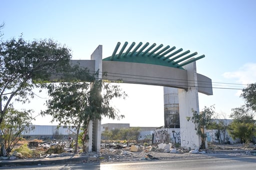
<svg viewBox="0 0 256 170">
<path fill-rule="evenodd" d="M 255 0 L 0 0 L 2 40 L 22 36 L 27 41 L 54 39 L 72 50 L 72 59 L 90 59 L 102 45 L 103 58 L 117 42 L 149 42 L 197 52 L 197 73 L 212 80 L 213 95 L 199 94 L 199 110 L 214 105 L 221 118 L 240 107 L 239 97 L 256 82 Z M 230 84 L 227 84 L 230 83 Z M 163 87 L 121 84 L 128 94 L 113 105 L 124 119 L 101 123 L 160 127 L 163 122 Z M 44 110 L 47 93 L 20 109 Z M 35 125 L 51 125 L 50 117 L 36 117 Z M 53 123 L 54 124 L 54 123 Z M 56 123 L 55 123 L 56 124 Z"/>
</svg>

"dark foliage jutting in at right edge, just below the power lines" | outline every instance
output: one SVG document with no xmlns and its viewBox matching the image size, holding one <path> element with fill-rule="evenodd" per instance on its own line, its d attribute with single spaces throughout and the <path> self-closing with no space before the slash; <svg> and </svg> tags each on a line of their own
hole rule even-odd
<svg viewBox="0 0 256 170">
<path fill-rule="evenodd" d="M 246 88 L 242 89 L 241 96 L 248 108 L 256 111 L 256 83 L 248 84 Z"/>
</svg>

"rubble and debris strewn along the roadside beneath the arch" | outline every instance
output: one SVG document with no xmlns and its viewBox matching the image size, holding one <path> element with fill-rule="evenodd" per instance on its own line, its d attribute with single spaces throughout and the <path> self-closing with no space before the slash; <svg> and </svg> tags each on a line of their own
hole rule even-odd
<svg viewBox="0 0 256 170">
<path fill-rule="evenodd" d="M 24 158 L 53 158 L 73 156 L 73 143 L 70 141 L 28 143 L 29 152 L 14 151 L 9 157 L 0 157 L 1 160 L 15 160 Z M 101 144 L 99 153 L 78 153 L 75 155 L 88 156 L 88 162 L 122 162 L 122 161 L 154 161 L 178 158 L 205 158 L 211 154 L 225 154 L 230 156 L 256 156 L 256 146 L 243 148 L 242 145 L 211 145 L 208 150 L 186 150 L 175 147 L 171 143 L 164 144 Z M 255 150 L 255 151 L 254 151 Z M 227 152 L 226 152 L 227 151 Z"/>
</svg>

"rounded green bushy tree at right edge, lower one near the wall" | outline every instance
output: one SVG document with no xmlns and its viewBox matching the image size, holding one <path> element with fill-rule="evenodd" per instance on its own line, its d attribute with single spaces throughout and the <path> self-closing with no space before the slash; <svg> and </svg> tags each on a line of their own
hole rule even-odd
<svg viewBox="0 0 256 170">
<path fill-rule="evenodd" d="M 238 138 L 241 143 L 249 144 L 252 137 L 256 135 L 254 114 L 254 111 L 245 105 L 232 109 L 230 118 L 233 119 L 233 122 L 228 128 L 228 133 L 232 139 Z"/>
</svg>

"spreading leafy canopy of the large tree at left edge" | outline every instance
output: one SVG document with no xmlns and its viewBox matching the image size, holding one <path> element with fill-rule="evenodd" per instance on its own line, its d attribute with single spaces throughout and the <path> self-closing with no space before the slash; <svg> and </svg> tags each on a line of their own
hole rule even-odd
<svg viewBox="0 0 256 170">
<path fill-rule="evenodd" d="M 26 42 L 21 36 L 0 43 L 0 125 L 11 101 L 29 102 L 34 87 L 68 70 L 70 50 L 53 40 Z M 33 80 L 32 80 L 33 78 Z"/>
</svg>

